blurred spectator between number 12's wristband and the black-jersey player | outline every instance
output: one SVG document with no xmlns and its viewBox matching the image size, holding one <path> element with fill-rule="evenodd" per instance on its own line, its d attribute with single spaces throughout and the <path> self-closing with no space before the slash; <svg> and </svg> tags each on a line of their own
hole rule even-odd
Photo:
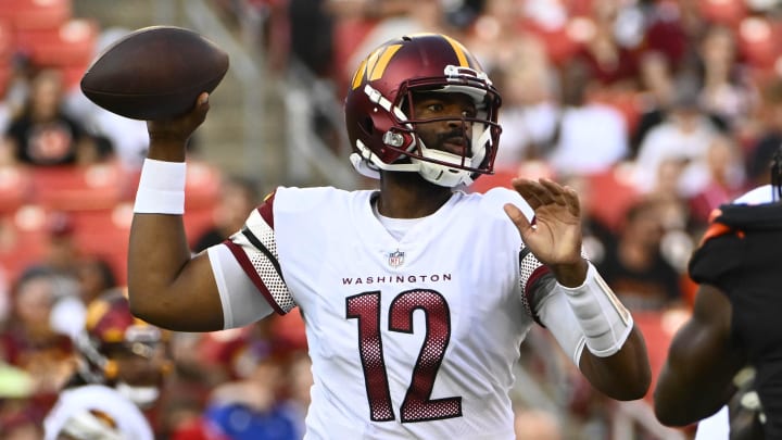
<svg viewBox="0 0 782 440">
<path fill-rule="evenodd" d="M 682 275 L 661 253 L 665 234 L 657 201 L 631 206 L 614 246 L 597 264 L 603 278 L 631 311 L 665 311 L 682 300 Z"/>
</svg>

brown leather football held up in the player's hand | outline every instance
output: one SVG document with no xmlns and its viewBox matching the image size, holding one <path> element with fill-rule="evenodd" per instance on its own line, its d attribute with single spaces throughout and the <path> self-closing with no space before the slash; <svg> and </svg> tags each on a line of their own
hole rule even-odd
<svg viewBox="0 0 782 440">
<path fill-rule="evenodd" d="M 99 106 L 133 120 L 166 120 L 190 111 L 228 71 L 228 54 L 181 27 L 135 30 L 103 50 L 81 77 L 81 91 Z"/>
</svg>

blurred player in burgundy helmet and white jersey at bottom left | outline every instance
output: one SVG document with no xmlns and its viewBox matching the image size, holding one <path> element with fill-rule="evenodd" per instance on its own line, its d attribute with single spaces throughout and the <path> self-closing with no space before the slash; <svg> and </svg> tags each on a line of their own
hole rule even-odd
<svg viewBox="0 0 782 440">
<path fill-rule="evenodd" d="M 43 423 L 45 439 L 154 439 L 146 411 L 169 369 L 165 332 L 130 314 L 118 289 L 87 309 L 77 374 Z"/>
</svg>

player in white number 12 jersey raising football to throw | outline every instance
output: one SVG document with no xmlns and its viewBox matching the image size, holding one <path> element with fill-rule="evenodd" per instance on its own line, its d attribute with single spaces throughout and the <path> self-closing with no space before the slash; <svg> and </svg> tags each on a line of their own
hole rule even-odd
<svg viewBox="0 0 782 440">
<path fill-rule="evenodd" d="M 388 41 L 346 95 L 355 168 L 378 190 L 278 187 L 224 243 L 190 255 L 182 227 L 193 111 L 148 123 L 129 248 L 134 313 L 187 331 L 295 307 L 313 363 L 306 438 L 513 439 L 519 345 L 548 328 L 598 390 L 644 397 L 630 313 L 581 256 L 575 191 L 492 173 L 501 98 L 458 41 Z"/>
</svg>

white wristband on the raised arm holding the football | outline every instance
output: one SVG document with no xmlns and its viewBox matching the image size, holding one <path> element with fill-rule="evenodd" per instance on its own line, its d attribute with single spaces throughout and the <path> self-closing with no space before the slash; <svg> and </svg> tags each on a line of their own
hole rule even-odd
<svg viewBox="0 0 782 440">
<path fill-rule="evenodd" d="M 185 162 L 144 159 L 136 191 L 138 214 L 185 214 Z"/>
</svg>

